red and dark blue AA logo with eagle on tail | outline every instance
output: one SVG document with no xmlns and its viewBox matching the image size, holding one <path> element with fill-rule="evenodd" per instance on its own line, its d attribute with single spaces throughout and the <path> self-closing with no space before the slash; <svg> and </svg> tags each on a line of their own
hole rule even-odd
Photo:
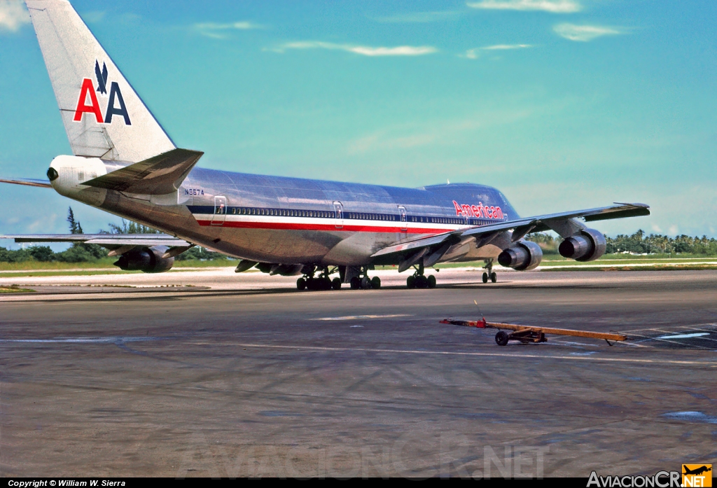
<svg viewBox="0 0 717 488">
<path fill-rule="evenodd" d="M 82 80 L 80 97 L 77 99 L 77 108 L 75 109 L 75 118 L 72 120 L 81 122 L 82 116 L 85 115 L 85 113 L 91 113 L 95 115 L 95 120 L 97 120 L 98 124 L 111 124 L 113 115 L 120 115 L 124 119 L 125 125 L 132 125 L 132 123 L 130 123 L 130 115 L 127 113 L 127 107 L 125 107 L 125 100 L 120 91 L 120 85 L 118 85 L 117 82 L 110 83 L 110 95 L 107 95 L 107 64 L 103 62 L 102 70 L 100 70 L 100 62 L 95 60 L 95 78 L 97 79 L 96 90 L 91 78 Z M 100 93 L 101 96 L 108 98 L 104 116 L 100 109 L 97 92 Z"/>
</svg>

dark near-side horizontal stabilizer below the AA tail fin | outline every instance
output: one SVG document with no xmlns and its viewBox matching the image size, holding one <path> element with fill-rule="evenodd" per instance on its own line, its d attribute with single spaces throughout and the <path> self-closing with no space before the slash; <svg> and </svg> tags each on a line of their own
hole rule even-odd
<svg viewBox="0 0 717 488">
<path fill-rule="evenodd" d="M 173 149 L 82 184 L 143 195 L 166 195 L 179 188 L 203 154 L 196 150 Z"/>
</svg>

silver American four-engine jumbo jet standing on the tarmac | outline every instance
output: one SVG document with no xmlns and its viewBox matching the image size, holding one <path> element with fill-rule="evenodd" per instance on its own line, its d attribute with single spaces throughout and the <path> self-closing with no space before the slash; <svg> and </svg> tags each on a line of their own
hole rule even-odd
<svg viewBox="0 0 717 488">
<path fill-rule="evenodd" d="M 118 256 L 120 269 L 165 272 L 192 246 L 239 258 L 237 272 L 300 276 L 299 290 L 381 287 L 379 265 L 414 269 L 409 288 L 433 288 L 425 270 L 485 261 L 516 270 L 540 264 L 531 232 L 556 231 L 559 252 L 591 261 L 604 235 L 584 222 L 650 214 L 645 204 L 519 217 L 497 188 L 447 183 L 399 188 L 196 167 L 204 154 L 178 148 L 67 0 L 26 0 L 72 156 L 52 160 L 44 180 L 62 196 L 163 234 L 34 234 L 16 242 L 87 242 Z M 331 279 L 331 276 L 338 277 Z"/>
</svg>

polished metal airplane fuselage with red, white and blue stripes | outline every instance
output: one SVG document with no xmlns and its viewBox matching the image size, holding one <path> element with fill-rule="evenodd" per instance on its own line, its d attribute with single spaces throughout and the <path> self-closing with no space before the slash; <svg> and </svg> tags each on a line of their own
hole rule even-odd
<svg viewBox="0 0 717 488">
<path fill-rule="evenodd" d="M 277 264 L 398 264 L 399 257 L 371 255 L 421 236 L 518 218 L 490 186 L 399 188 L 203 168 L 169 195 L 87 187 L 63 194 L 233 257 Z M 441 261 L 495 258 L 509 245 L 508 233 L 479 248 L 468 239 Z"/>
</svg>

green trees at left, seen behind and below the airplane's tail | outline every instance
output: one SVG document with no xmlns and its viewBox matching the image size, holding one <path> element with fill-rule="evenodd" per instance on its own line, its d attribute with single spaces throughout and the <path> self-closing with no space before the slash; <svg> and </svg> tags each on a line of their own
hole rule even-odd
<svg viewBox="0 0 717 488">
<path fill-rule="evenodd" d="M 67 211 L 67 224 L 70 227 L 70 234 L 84 234 L 82 224 L 75 219 L 75 213 L 72 207 Z M 122 219 L 122 224 L 109 224 L 109 230 L 101 230 L 98 234 L 159 234 L 159 231 L 151 227 L 143 226 L 132 221 Z M 49 246 L 32 246 L 27 249 L 6 249 L 0 247 L 0 262 L 93 262 L 98 259 L 107 257 L 108 250 L 98 244 L 87 244 L 84 242 L 74 242 L 72 245 L 62 252 L 54 252 Z M 184 259 L 227 259 L 224 254 L 219 252 L 208 252 L 202 247 L 192 247 L 191 249 L 179 254 L 174 259 L 182 261 Z"/>
</svg>

